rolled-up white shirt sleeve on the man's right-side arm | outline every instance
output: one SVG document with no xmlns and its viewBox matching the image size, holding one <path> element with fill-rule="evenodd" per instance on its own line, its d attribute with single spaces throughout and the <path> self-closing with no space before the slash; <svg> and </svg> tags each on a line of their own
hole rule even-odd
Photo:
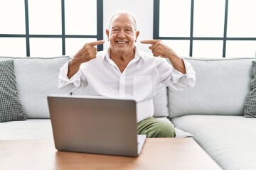
<svg viewBox="0 0 256 170">
<path fill-rule="evenodd" d="M 178 72 L 178 70 L 174 69 L 174 67 L 169 66 L 169 71 L 167 71 L 164 75 L 165 77 L 167 76 L 167 78 L 164 79 L 161 83 L 165 84 L 166 86 L 170 86 L 174 90 L 188 89 L 195 86 L 196 72 L 193 69 L 190 62 L 184 59 L 183 59 L 183 62 L 185 64 L 186 74 Z M 163 72 L 162 70 L 164 70 L 164 68 L 161 68 L 161 67 L 159 68 L 161 69 L 161 72 Z"/>
</svg>

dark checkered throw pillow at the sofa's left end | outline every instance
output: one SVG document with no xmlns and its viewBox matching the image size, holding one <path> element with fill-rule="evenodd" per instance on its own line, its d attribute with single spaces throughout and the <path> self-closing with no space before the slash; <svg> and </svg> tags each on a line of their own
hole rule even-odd
<svg viewBox="0 0 256 170">
<path fill-rule="evenodd" d="M 14 60 L 0 62 L 0 123 L 26 120 L 18 98 Z"/>
</svg>

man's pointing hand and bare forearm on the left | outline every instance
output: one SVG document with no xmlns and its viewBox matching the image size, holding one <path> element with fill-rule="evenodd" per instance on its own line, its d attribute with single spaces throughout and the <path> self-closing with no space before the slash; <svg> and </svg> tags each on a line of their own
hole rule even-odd
<svg viewBox="0 0 256 170">
<path fill-rule="evenodd" d="M 98 40 L 95 42 L 86 43 L 79 51 L 75 54 L 73 60 L 71 60 L 70 64 L 68 65 L 68 79 L 73 77 L 73 75 L 78 72 L 80 64 L 83 62 L 89 62 L 92 59 L 96 58 L 97 55 L 97 48 L 94 47 L 96 45 L 101 45 L 105 41 Z"/>
</svg>

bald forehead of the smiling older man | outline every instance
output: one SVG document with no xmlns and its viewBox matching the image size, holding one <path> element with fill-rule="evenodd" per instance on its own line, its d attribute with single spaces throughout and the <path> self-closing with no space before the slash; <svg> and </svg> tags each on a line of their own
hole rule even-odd
<svg viewBox="0 0 256 170">
<path fill-rule="evenodd" d="M 112 18 L 110 26 L 119 26 L 119 25 L 131 26 L 134 28 L 134 20 L 131 16 L 126 14 L 119 14 Z"/>
</svg>

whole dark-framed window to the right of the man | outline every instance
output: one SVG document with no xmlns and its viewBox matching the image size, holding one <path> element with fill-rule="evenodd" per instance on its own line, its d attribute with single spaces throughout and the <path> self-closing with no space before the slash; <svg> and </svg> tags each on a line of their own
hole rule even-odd
<svg viewBox="0 0 256 170">
<path fill-rule="evenodd" d="M 178 55 L 256 57 L 255 0 L 154 0 L 154 39 Z"/>
</svg>

